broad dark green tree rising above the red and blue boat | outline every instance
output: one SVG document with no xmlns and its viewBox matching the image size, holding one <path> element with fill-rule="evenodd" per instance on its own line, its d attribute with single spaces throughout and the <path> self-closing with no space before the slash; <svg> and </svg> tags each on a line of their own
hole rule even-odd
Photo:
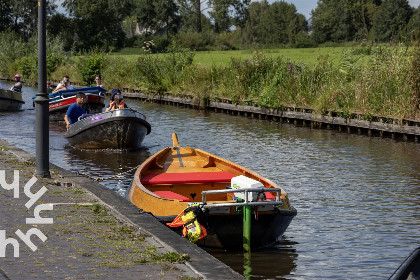
<svg viewBox="0 0 420 280">
<path fill-rule="evenodd" d="M 65 0 L 64 7 L 74 21 L 76 49 L 121 47 L 125 34 L 121 27 L 129 13 L 129 0 Z"/>
</svg>

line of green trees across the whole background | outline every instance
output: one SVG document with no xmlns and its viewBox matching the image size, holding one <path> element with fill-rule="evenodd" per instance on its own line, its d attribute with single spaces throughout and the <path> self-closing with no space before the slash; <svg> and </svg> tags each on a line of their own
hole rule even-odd
<svg viewBox="0 0 420 280">
<path fill-rule="evenodd" d="M 420 40 L 420 7 L 407 0 L 319 0 L 311 18 L 295 5 L 267 0 L 64 0 L 59 13 L 47 0 L 48 36 L 75 51 L 171 44 L 195 50 L 313 47 L 343 42 Z M 0 32 L 30 40 L 37 32 L 37 3 L 2 0 Z M 136 32 L 137 31 L 137 32 Z"/>
</svg>

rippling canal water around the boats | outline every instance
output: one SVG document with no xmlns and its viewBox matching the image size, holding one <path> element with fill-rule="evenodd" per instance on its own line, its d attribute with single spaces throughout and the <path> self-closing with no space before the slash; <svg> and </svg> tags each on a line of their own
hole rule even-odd
<svg viewBox="0 0 420 280">
<path fill-rule="evenodd" d="M 23 111 L 0 113 L 0 138 L 32 154 L 35 92 L 24 87 Z M 51 124 L 50 161 L 106 178 L 171 146 L 176 132 L 180 145 L 227 158 L 278 183 L 298 215 L 275 248 L 252 253 L 250 279 L 387 279 L 420 246 L 420 144 L 127 103 L 152 125 L 141 150 L 76 150 L 63 138 L 64 126 Z M 102 184 L 124 196 L 133 173 Z M 209 252 L 244 273 L 241 252 Z"/>
</svg>

